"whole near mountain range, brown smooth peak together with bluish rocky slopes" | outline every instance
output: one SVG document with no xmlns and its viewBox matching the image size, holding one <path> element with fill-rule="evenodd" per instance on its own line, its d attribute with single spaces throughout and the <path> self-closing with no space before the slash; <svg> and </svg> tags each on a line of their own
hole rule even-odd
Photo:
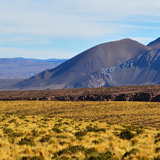
<svg viewBox="0 0 160 160">
<path fill-rule="evenodd" d="M 160 83 L 160 38 L 147 46 L 122 39 L 94 46 L 12 87 L 39 90 Z"/>
</svg>

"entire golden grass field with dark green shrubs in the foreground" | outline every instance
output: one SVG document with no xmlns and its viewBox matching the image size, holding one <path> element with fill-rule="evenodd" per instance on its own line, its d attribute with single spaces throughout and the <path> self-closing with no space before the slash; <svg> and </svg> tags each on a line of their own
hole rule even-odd
<svg viewBox="0 0 160 160">
<path fill-rule="evenodd" d="M 160 103 L 0 102 L 0 160 L 160 159 Z"/>
</svg>

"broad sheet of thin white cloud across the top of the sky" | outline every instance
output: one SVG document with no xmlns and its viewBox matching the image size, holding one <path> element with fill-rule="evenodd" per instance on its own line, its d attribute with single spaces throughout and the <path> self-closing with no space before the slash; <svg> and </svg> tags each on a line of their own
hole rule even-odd
<svg viewBox="0 0 160 160">
<path fill-rule="evenodd" d="M 159 0 L 0 0 L 0 33 L 101 36 L 124 32 L 117 21 L 144 15 L 145 21 L 159 10 Z"/>
</svg>

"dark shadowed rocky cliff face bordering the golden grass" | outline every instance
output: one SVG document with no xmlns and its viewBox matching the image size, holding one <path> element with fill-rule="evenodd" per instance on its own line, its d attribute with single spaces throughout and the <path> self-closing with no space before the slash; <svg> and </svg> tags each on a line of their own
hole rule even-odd
<svg viewBox="0 0 160 160">
<path fill-rule="evenodd" d="M 113 95 L 81 95 L 81 96 L 50 96 L 50 97 L 10 97 L 0 98 L 1 101 L 8 100 L 32 100 L 32 101 L 149 101 L 160 102 L 160 95 L 154 93 L 126 93 L 126 94 L 113 94 Z"/>
</svg>

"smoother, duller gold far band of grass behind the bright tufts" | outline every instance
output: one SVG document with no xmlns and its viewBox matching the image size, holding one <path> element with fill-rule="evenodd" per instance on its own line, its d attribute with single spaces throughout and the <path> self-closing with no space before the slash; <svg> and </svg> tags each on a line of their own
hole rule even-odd
<svg viewBox="0 0 160 160">
<path fill-rule="evenodd" d="M 1 101 L 0 113 L 102 120 L 160 128 L 159 102 Z"/>
</svg>

